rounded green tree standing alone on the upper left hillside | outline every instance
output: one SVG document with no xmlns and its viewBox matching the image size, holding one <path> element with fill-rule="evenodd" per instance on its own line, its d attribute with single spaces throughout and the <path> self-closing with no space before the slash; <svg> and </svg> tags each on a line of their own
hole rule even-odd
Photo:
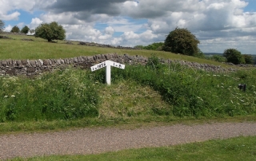
<svg viewBox="0 0 256 161">
<path fill-rule="evenodd" d="M 35 37 L 41 37 L 48 42 L 53 40 L 64 40 L 66 31 L 57 22 L 50 22 L 50 24 L 43 23 L 35 29 Z"/>
</svg>

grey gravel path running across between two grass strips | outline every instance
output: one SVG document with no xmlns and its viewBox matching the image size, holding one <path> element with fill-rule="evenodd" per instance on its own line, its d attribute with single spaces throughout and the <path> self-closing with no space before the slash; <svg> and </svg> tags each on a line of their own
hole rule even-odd
<svg viewBox="0 0 256 161">
<path fill-rule="evenodd" d="M 121 130 L 84 128 L 68 132 L 0 135 L 0 159 L 35 155 L 95 154 L 127 148 L 161 147 L 179 143 L 256 135 L 256 123 L 174 125 Z"/>
</svg>

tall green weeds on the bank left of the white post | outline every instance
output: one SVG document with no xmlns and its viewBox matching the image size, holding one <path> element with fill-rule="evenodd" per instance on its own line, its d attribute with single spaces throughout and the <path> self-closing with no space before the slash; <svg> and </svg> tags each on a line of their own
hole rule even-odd
<svg viewBox="0 0 256 161">
<path fill-rule="evenodd" d="M 98 93 L 84 71 L 66 69 L 34 80 L 0 77 L 0 83 L 0 122 L 98 116 Z"/>
</svg>

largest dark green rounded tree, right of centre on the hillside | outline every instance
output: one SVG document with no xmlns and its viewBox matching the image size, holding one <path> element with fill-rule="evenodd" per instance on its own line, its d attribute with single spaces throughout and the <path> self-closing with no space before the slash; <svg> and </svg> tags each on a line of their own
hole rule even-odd
<svg viewBox="0 0 256 161">
<path fill-rule="evenodd" d="M 172 53 L 197 56 L 200 53 L 198 49 L 199 43 L 200 41 L 198 41 L 197 37 L 190 33 L 188 29 L 179 29 L 177 27 L 166 37 L 162 49 Z"/>
</svg>

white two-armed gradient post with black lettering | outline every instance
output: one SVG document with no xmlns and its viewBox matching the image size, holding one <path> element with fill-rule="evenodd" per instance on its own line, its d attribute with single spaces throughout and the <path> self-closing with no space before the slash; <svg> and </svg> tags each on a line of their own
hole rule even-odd
<svg viewBox="0 0 256 161">
<path fill-rule="evenodd" d="M 98 65 L 94 65 L 90 67 L 91 71 L 94 72 L 95 70 L 102 69 L 106 67 L 106 84 L 111 84 L 111 66 L 114 66 L 118 69 L 125 69 L 126 65 L 122 65 L 120 63 L 114 62 L 114 61 L 104 61 L 102 63 L 99 63 Z"/>
</svg>

